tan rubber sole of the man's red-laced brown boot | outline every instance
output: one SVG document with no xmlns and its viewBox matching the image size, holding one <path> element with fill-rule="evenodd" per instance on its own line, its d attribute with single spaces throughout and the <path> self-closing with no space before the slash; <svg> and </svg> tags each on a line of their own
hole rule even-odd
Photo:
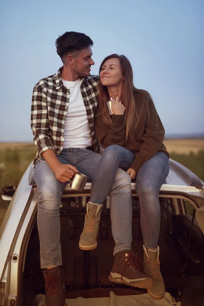
<svg viewBox="0 0 204 306">
<path fill-rule="evenodd" d="M 113 273 L 113 274 L 117 274 L 117 273 Z M 109 275 L 109 281 L 114 282 L 114 283 L 119 283 L 119 284 L 125 284 L 127 286 L 132 286 L 132 287 L 137 287 L 137 288 L 141 288 L 141 289 L 147 289 L 147 288 L 151 288 L 153 285 L 153 281 L 151 278 L 142 278 L 142 279 L 138 279 L 138 281 L 129 281 L 128 278 L 124 278 L 124 276 L 121 277 L 121 275 L 118 277 L 113 277 L 111 274 Z"/>
</svg>

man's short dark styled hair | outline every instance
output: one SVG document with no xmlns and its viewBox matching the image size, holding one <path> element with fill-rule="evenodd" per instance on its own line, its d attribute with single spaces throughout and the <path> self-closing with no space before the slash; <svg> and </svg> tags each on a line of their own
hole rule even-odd
<svg viewBox="0 0 204 306">
<path fill-rule="evenodd" d="M 55 44 L 57 48 L 57 54 L 62 59 L 64 55 L 68 53 L 92 46 L 93 41 L 84 33 L 65 32 L 63 35 L 58 37 Z"/>
</svg>

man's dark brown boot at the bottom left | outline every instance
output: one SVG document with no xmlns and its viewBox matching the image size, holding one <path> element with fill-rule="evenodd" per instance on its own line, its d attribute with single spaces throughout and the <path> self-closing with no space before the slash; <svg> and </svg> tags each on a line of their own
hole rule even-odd
<svg viewBox="0 0 204 306">
<path fill-rule="evenodd" d="M 45 281 L 45 304 L 46 306 L 65 305 L 65 286 L 60 267 L 42 270 Z"/>
</svg>

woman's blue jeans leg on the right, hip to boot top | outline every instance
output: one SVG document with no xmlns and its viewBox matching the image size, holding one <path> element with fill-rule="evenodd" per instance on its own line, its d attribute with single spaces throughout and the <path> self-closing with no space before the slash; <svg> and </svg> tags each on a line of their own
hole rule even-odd
<svg viewBox="0 0 204 306">
<path fill-rule="evenodd" d="M 136 192 L 140 202 L 140 223 L 146 248 L 158 246 L 161 210 L 159 191 L 169 173 L 169 159 L 164 152 L 157 152 L 145 162 L 136 176 Z"/>
</svg>

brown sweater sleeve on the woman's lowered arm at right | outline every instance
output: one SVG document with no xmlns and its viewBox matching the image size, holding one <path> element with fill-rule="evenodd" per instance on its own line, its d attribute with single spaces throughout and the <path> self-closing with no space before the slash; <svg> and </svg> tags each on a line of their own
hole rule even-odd
<svg viewBox="0 0 204 306">
<path fill-rule="evenodd" d="M 154 102 L 149 100 L 149 114 L 147 113 L 145 121 L 144 134 L 141 138 L 142 145 L 136 154 L 135 160 L 130 168 L 138 172 L 140 166 L 152 158 L 162 145 L 164 139 L 164 126 L 155 108 Z"/>
</svg>

